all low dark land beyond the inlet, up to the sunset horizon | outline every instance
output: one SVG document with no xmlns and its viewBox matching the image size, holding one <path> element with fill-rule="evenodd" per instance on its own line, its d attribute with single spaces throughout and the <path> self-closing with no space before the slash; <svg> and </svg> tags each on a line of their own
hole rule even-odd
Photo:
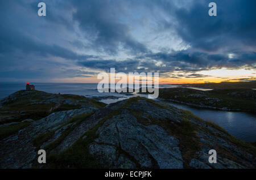
<svg viewBox="0 0 256 180">
<path fill-rule="evenodd" d="M 179 86 L 177 88 L 159 88 L 159 98 L 200 108 L 256 112 L 255 81 L 179 84 Z M 201 91 L 189 87 L 212 90 Z"/>
</svg>

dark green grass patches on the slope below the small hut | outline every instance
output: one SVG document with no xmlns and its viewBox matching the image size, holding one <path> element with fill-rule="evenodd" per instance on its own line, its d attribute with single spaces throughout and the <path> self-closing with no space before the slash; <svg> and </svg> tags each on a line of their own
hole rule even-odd
<svg viewBox="0 0 256 180">
<path fill-rule="evenodd" d="M 55 95 L 51 93 L 46 93 L 42 91 L 34 91 L 31 95 L 23 96 L 22 93 L 26 91 L 18 91 L 15 92 L 15 100 L 10 101 L 8 104 L 4 105 L 2 109 L 0 109 L 1 115 L 7 115 L 9 117 L 13 117 L 11 119 L 6 119 L 5 121 L 1 121 L 1 124 L 9 123 L 9 122 L 20 122 L 24 119 L 30 118 L 34 120 L 38 120 L 41 118 L 46 117 L 47 115 L 53 112 L 59 112 L 62 110 L 71 110 L 71 109 L 80 109 L 81 105 L 79 101 L 84 100 L 88 105 L 95 106 L 96 108 L 102 108 L 106 104 L 103 102 L 99 102 L 96 100 L 91 100 L 84 96 L 78 95 Z M 45 104 L 34 104 L 34 102 L 40 102 L 47 100 L 48 98 L 61 98 L 63 100 L 75 100 L 78 102 L 77 105 L 72 104 L 61 104 L 57 106 L 58 108 L 52 109 L 56 104 L 52 103 L 45 103 Z M 52 110 L 51 110 L 52 109 Z M 30 123 L 18 123 L 9 126 L 0 127 L 0 139 L 6 138 L 15 132 L 18 132 L 24 127 L 29 126 Z"/>
</svg>

